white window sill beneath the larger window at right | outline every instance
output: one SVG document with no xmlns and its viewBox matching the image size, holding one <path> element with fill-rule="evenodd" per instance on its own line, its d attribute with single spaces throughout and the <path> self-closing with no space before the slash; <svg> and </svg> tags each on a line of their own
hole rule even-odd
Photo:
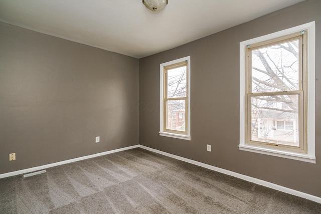
<svg viewBox="0 0 321 214">
<path fill-rule="evenodd" d="M 242 151 L 249 151 L 249 152 L 255 152 L 260 154 L 266 154 L 266 155 L 272 155 L 276 157 L 283 157 L 293 160 L 299 160 L 309 163 L 315 163 L 315 156 L 310 156 L 307 154 L 299 154 L 289 151 L 281 151 L 281 150 L 275 150 L 275 149 L 269 149 L 264 147 L 258 147 L 258 146 L 252 146 L 252 145 L 239 145 L 240 150 Z"/>
</svg>

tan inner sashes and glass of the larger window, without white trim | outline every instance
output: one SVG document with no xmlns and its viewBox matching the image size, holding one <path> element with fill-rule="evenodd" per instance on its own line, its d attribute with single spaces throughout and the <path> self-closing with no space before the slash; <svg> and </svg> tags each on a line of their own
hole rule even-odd
<svg viewBox="0 0 321 214">
<path fill-rule="evenodd" d="M 307 152 L 303 113 L 306 35 L 306 31 L 298 32 L 247 47 L 246 144 Z M 293 122 L 285 125 L 284 119 L 293 120 L 295 130 Z"/>
</svg>

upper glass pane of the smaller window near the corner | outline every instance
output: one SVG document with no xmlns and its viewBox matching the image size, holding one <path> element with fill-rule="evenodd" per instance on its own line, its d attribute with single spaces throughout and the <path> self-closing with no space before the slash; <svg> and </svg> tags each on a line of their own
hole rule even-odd
<svg viewBox="0 0 321 214">
<path fill-rule="evenodd" d="M 186 97 L 186 66 L 167 70 L 167 97 Z"/>
</svg>

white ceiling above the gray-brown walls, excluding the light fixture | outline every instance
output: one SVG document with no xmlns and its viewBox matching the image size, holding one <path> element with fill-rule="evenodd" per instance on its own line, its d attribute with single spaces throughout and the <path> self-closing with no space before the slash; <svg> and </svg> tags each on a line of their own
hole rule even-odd
<svg viewBox="0 0 321 214">
<path fill-rule="evenodd" d="M 169 0 L 153 13 L 141 0 L 0 0 L 0 21 L 142 58 L 303 0 Z"/>
</svg>

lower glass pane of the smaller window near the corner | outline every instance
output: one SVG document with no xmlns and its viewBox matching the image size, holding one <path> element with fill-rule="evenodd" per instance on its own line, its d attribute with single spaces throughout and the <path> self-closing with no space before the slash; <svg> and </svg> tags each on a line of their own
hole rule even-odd
<svg viewBox="0 0 321 214">
<path fill-rule="evenodd" d="M 166 129 L 185 132 L 185 100 L 168 100 Z"/>
</svg>

